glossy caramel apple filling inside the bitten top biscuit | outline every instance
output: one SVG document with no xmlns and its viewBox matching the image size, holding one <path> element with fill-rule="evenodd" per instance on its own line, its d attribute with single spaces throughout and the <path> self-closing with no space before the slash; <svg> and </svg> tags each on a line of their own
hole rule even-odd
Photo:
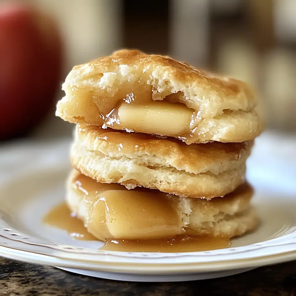
<svg viewBox="0 0 296 296">
<path fill-rule="evenodd" d="M 126 88 L 118 89 L 113 96 L 111 93 L 110 89 L 73 87 L 65 112 L 89 125 L 194 142 L 200 119 L 196 110 L 186 107 L 183 93 L 157 94 L 142 81 L 135 87 L 127 83 Z"/>
</svg>

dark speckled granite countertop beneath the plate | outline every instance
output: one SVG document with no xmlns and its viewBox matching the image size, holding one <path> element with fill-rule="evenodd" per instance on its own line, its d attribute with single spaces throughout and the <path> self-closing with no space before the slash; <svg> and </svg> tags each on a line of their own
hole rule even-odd
<svg viewBox="0 0 296 296">
<path fill-rule="evenodd" d="M 203 281 L 133 283 L 72 274 L 0 258 L 0 296 L 296 295 L 296 261 Z"/>
</svg>

